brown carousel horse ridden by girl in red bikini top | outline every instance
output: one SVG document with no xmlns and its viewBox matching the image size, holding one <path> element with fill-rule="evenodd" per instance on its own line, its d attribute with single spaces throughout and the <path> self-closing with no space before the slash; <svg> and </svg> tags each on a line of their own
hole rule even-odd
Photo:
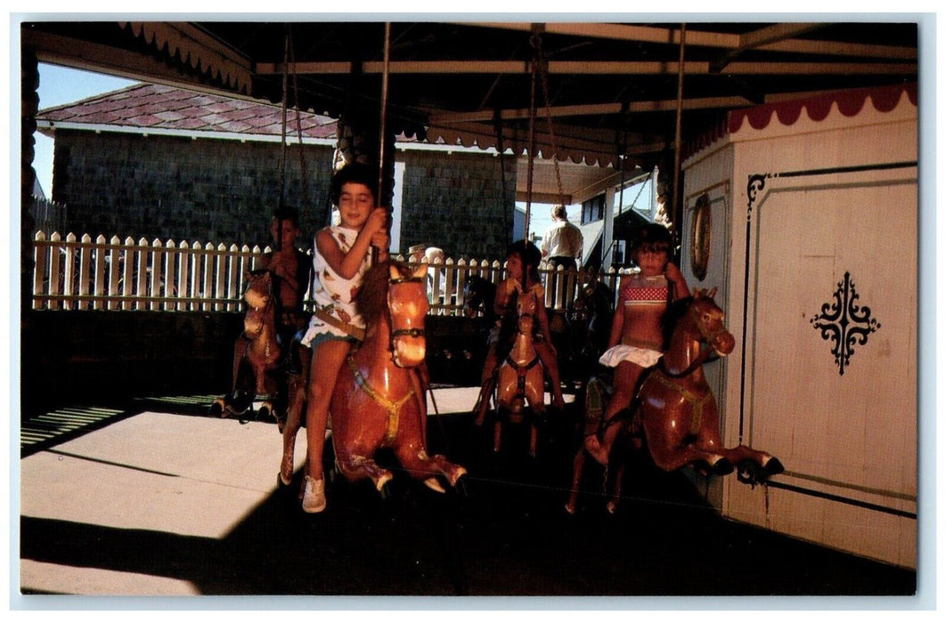
<svg viewBox="0 0 946 623">
<path fill-rule="evenodd" d="M 642 433 L 651 458 L 664 471 L 691 465 L 701 472 L 724 476 L 738 470 L 739 479 L 754 486 L 780 474 L 784 467 L 779 459 L 746 445 L 723 445 L 719 412 L 703 364 L 710 353 L 731 353 L 735 338 L 724 325 L 723 310 L 713 301 L 715 294 L 716 288 L 710 292 L 694 289 L 692 298 L 674 302 L 668 308 L 668 346 L 657 366 L 640 382 L 630 429 L 632 435 Z M 594 409 L 597 413 L 601 410 Z M 638 438 L 633 445 L 639 447 L 640 443 Z M 569 512 L 575 510 L 584 458 L 583 447 L 574 462 L 571 495 L 565 507 Z M 617 509 L 621 496 L 622 469 L 623 465 L 619 465 L 615 491 L 607 504 L 610 512 Z"/>
</svg>

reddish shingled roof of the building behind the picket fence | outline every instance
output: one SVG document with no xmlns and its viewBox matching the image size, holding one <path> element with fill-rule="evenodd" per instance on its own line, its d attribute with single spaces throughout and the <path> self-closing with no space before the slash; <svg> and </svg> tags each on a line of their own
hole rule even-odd
<svg viewBox="0 0 946 623">
<path fill-rule="evenodd" d="M 168 132 L 219 132 L 262 137 L 282 135 L 282 107 L 243 99 L 207 95 L 160 84 L 135 84 L 72 104 L 40 111 L 40 129 L 57 126 L 165 130 Z M 300 112 L 303 140 L 336 138 L 336 119 Z M 287 113 L 289 138 L 297 136 L 296 114 Z"/>
</svg>

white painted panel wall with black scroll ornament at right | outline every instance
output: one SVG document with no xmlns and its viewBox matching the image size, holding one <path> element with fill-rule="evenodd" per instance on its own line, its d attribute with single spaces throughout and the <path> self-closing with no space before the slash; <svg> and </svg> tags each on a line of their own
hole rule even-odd
<svg viewBox="0 0 946 623">
<path fill-rule="evenodd" d="M 820 124 L 803 115 L 791 129 L 730 136 L 685 180 L 688 198 L 732 181 L 727 266 L 710 259 L 707 278 L 725 270 L 737 339 L 724 439 L 786 467 L 768 487 L 720 479 L 710 501 L 733 519 L 906 567 L 917 560 L 917 135 L 908 102 Z M 715 209 L 713 219 L 716 234 Z M 841 374 L 812 320 L 845 273 L 877 325 Z"/>
</svg>

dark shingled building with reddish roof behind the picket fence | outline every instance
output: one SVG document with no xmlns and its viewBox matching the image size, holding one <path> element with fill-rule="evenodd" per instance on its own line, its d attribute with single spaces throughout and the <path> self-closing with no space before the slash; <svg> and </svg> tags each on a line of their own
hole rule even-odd
<svg viewBox="0 0 946 623">
<path fill-rule="evenodd" d="M 262 245 L 285 176 L 286 202 L 311 239 L 329 218 L 337 121 L 300 113 L 300 148 L 295 113 L 288 118 L 284 157 L 282 110 L 269 104 L 142 83 L 41 111 L 39 130 L 55 140 L 58 206 L 42 220 L 93 236 Z M 396 149 L 394 251 L 501 255 L 516 159 L 404 136 Z"/>
</svg>

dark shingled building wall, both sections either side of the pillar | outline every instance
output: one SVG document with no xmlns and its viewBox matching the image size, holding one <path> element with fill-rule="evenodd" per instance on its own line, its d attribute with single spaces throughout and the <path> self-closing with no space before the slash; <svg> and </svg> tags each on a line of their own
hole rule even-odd
<svg viewBox="0 0 946 623">
<path fill-rule="evenodd" d="M 288 149 L 287 201 L 299 209 L 307 247 L 327 222 L 333 148 L 305 146 L 305 198 L 297 149 Z M 265 245 L 280 156 L 278 143 L 57 130 L 53 200 L 65 205 L 61 234 Z M 397 158 L 406 164 L 402 251 L 424 244 L 447 257 L 502 256 L 513 227 L 514 158 L 502 161 L 504 181 L 500 159 L 485 152 L 409 150 Z"/>
</svg>

